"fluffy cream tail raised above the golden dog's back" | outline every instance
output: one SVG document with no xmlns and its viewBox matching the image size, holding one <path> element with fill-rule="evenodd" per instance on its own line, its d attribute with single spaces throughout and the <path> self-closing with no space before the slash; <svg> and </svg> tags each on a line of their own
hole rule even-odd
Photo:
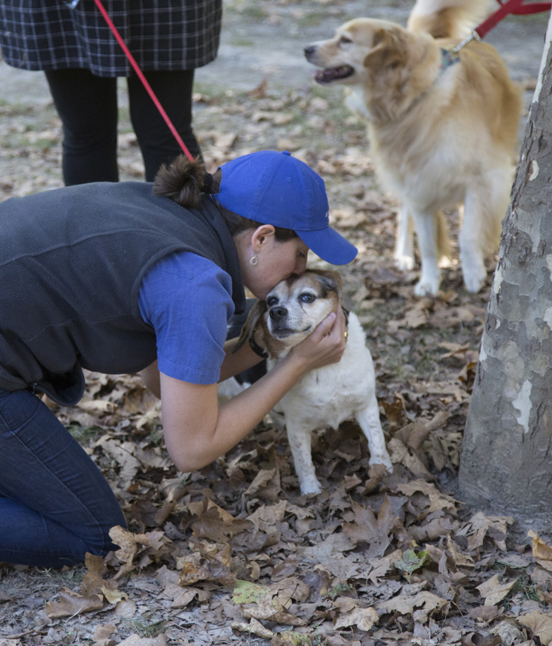
<svg viewBox="0 0 552 646">
<path fill-rule="evenodd" d="M 407 28 L 433 38 L 465 38 L 491 7 L 492 0 L 416 0 Z"/>
</svg>

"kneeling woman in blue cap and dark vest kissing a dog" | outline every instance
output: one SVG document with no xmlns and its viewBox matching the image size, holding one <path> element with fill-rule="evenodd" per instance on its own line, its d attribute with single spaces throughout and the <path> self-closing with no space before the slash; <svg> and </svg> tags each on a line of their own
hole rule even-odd
<svg viewBox="0 0 552 646">
<path fill-rule="evenodd" d="M 257 152 L 211 176 L 179 157 L 153 184 L 91 183 L 0 203 L 0 561 L 62 567 L 125 526 L 90 457 L 37 396 L 75 405 L 82 368 L 141 372 L 179 470 L 237 444 L 309 370 L 344 351 L 331 314 L 275 370 L 219 405 L 217 382 L 259 363 L 228 321 L 306 268 L 356 249 L 328 224 L 322 179 Z"/>
</svg>

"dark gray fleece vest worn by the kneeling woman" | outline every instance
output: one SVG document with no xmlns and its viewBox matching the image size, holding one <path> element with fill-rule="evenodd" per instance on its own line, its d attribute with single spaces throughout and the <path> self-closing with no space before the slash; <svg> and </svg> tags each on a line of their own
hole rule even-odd
<svg viewBox="0 0 552 646">
<path fill-rule="evenodd" d="M 152 194 L 143 182 L 92 183 L 0 203 L 0 388 L 32 388 L 74 405 L 81 368 L 138 372 L 157 359 L 140 317 L 141 279 L 155 261 L 185 250 L 232 277 L 239 259 L 221 214 Z"/>
</svg>

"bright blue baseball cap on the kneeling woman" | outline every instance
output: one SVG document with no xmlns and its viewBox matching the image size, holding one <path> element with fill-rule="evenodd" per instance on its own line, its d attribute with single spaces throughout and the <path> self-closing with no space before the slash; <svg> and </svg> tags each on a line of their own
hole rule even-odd
<svg viewBox="0 0 552 646">
<path fill-rule="evenodd" d="M 262 150 L 221 166 L 219 204 L 261 224 L 292 229 L 332 265 L 355 259 L 357 248 L 330 226 L 324 180 L 287 150 Z"/>
</svg>

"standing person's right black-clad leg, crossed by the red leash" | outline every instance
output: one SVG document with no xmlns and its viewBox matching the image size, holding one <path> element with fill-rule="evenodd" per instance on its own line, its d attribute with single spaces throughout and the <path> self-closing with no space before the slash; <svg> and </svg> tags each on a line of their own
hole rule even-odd
<svg viewBox="0 0 552 646">
<path fill-rule="evenodd" d="M 193 157 L 201 156 L 192 130 L 194 70 L 145 72 L 153 92 Z M 128 79 L 130 119 L 146 166 L 146 181 L 153 181 L 159 167 L 182 153 L 150 95 L 136 74 Z"/>
</svg>

